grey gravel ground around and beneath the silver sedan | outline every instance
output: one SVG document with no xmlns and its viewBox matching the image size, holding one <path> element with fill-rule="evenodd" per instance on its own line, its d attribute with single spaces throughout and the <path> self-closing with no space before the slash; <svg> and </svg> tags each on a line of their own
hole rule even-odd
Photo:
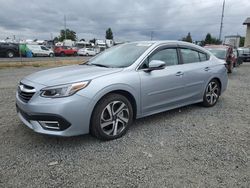
<svg viewBox="0 0 250 188">
<path fill-rule="evenodd" d="M 250 63 L 213 108 L 136 120 L 109 142 L 39 135 L 18 120 L 18 80 L 41 69 L 0 69 L 0 187 L 250 187 Z"/>
</svg>

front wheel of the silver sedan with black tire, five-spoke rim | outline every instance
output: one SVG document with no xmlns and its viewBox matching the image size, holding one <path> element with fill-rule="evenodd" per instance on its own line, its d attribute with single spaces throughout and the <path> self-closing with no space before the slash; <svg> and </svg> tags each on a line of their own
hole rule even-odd
<svg viewBox="0 0 250 188">
<path fill-rule="evenodd" d="M 101 140 L 123 136 L 133 121 L 130 101 L 120 94 L 109 94 L 101 99 L 92 114 L 90 133 Z"/>
</svg>

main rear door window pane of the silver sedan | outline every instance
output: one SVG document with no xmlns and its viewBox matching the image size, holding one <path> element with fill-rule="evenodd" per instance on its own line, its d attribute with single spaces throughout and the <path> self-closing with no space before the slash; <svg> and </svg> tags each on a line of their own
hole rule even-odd
<svg viewBox="0 0 250 188">
<path fill-rule="evenodd" d="M 199 52 L 188 48 L 181 49 L 184 64 L 200 62 Z"/>
</svg>

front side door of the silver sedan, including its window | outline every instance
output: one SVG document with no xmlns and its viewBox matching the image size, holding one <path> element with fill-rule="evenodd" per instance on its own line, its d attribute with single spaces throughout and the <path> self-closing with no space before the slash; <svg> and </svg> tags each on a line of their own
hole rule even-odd
<svg viewBox="0 0 250 188">
<path fill-rule="evenodd" d="M 147 71 L 148 63 L 161 60 L 166 67 Z M 176 46 L 164 46 L 149 55 L 139 69 L 141 79 L 141 104 L 144 115 L 178 106 L 182 100 L 183 77 Z"/>
</svg>

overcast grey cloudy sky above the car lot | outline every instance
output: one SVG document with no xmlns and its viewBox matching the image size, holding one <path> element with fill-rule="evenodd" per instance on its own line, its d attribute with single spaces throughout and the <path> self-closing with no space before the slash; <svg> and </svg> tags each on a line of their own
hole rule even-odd
<svg viewBox="0 0 250 188">
<path fill-rule="evenodd" d="M 79 39 L 105 37 L 111 27 L 116 40 L 193 40 L 206 33 L 219 36 L 223 0 L 0 0 L 0 39 L 50 39 L 64 27 Z M 245 35 L 249 0 L 226 0 L 223 36 Z"/>
</svg>

